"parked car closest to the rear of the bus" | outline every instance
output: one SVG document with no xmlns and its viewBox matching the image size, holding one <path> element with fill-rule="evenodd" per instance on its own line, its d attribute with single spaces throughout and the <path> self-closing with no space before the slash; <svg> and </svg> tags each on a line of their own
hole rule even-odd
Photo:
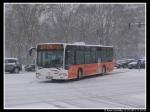
<svg viewBox="0 0 150 112">
<path fill-rule="evenodd" d="M 117 68 L 128 68 L 128 64 L 135 61 L 135 59 L 124 59 L 124 60 L 118 60 L 116 62 Z"/>
</svg>

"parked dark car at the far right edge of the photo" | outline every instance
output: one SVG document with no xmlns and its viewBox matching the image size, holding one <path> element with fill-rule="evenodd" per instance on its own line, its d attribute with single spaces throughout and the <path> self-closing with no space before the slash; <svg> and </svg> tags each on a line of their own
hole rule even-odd
<svg viewBox="0 0 150 112">
<path fill-rule="evenodd" d="M 139 67 L 145 68 L 145 60 L 140 59 L 128 64 L 129 69 L 133 69 L 133 68 L 138 69 Z"/>
</svg>

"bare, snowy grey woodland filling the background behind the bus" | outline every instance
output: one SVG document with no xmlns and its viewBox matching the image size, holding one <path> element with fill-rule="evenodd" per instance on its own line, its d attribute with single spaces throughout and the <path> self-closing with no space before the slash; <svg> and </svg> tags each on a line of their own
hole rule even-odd
<svg viewBox="0 0 150 112">
<path fill-rule="evenodd" d="M 145 23 L 144 8 L 142 4 L 7 4 L 5 56 L 31 63 L 27 53 L 31 46 L 75 41 L 113 45 L 117 57 L 139 56 L 145 53 L 145 27 L 134 23 Z"/>
</svg>

